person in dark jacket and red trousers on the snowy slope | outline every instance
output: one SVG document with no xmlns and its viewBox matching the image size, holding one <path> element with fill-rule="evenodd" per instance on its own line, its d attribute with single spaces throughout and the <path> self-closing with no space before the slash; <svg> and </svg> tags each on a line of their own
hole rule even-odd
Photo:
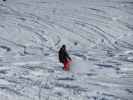
<svg viewBox="0 0 133 100">
<path fill-rule="evenodd" d="M 59 54 L 59 61 L 64 64 L 63 69 L 65 71 L 68 71 L 70 69 L 69 67 L 70 67 L 70 62 L 72 61 L 72 59 L 69 57 L 66 51 L 66 45 L 62 45 L 58 54 Z"/>
</svg>

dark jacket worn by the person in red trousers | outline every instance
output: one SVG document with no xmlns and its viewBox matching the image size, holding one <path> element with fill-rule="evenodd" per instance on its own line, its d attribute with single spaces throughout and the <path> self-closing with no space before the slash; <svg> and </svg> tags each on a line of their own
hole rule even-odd
<svg viewBox="0 0 133 100">
<path fill-rule="evenodd" d="M 69 55 L 68 55 L 66 49 L 62 47 L 62 48 L 59 50 L 59 61 L 60 61 L 61 63 L 64 63 L 64 62 L 67 61 L 67 60 L 71 60 L 71 58 L 69 57 Z"/>
</svg>

